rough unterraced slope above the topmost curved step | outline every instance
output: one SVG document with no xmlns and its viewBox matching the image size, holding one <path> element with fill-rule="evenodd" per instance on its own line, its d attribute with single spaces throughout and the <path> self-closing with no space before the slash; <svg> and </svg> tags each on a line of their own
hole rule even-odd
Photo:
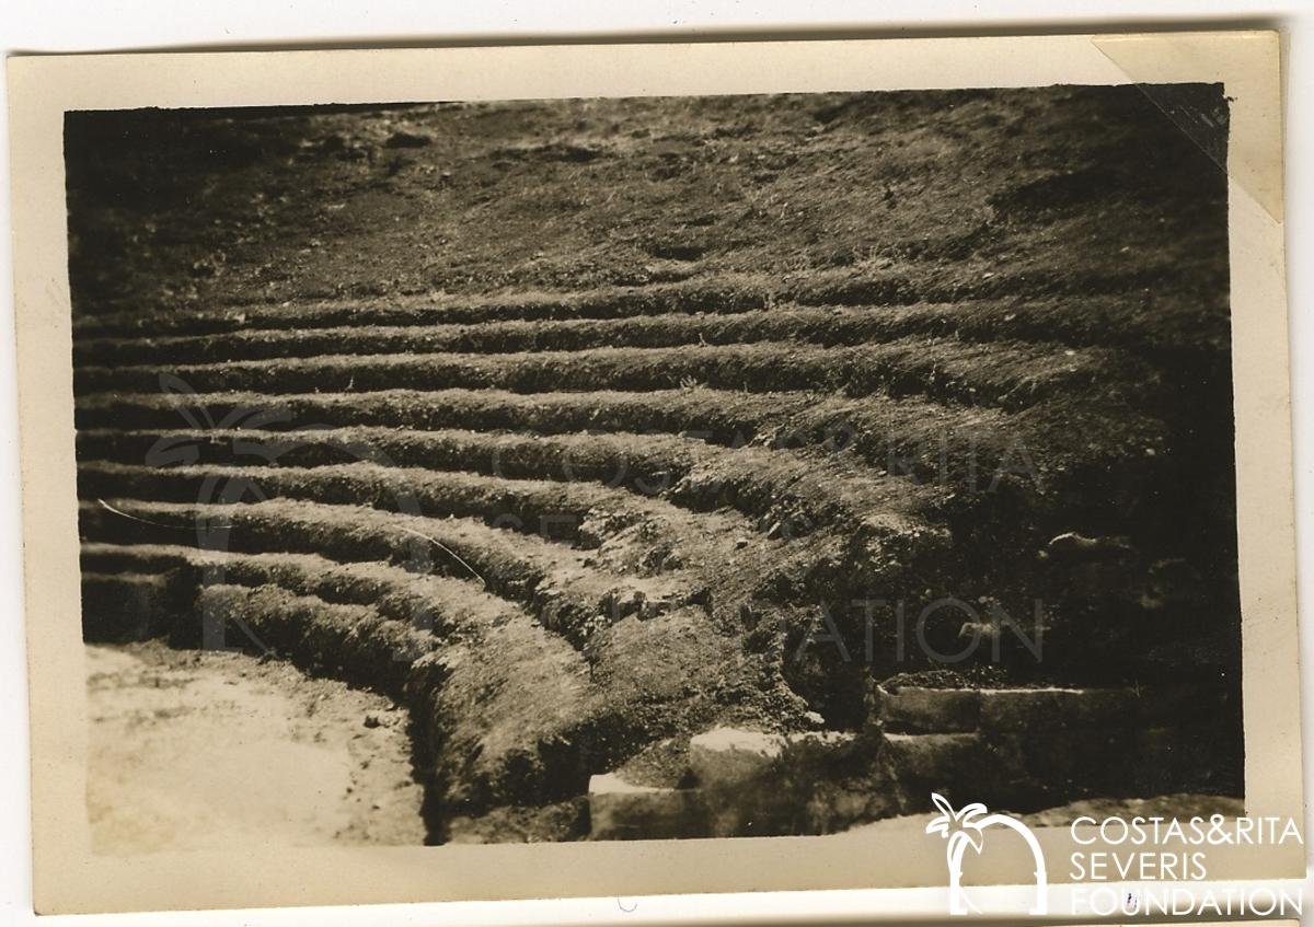
<svg viewBox="0 0 1314 927">
<path fill-rule="evenodd" d="M 1209 293 L 1209 140 L 1133 88 L 79 113 L 74 309 L 819 272 Z"/>
</svg>

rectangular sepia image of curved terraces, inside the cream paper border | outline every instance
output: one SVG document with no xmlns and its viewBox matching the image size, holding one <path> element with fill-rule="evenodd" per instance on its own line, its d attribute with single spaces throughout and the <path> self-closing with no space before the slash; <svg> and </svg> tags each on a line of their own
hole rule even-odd
<svg viewBox="0 0 1314 927">
<path fill-rule="evenodd" d="M 62 109 L 89 853 L 1271 810 L 1236 105 Z"/>
</svg>

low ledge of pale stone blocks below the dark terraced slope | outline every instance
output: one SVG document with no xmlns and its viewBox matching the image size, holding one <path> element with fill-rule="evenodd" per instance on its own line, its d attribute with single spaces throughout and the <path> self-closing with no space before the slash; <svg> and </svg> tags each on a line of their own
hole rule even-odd
<svg viewBox="0 0 1314 927">
<path fill-rule="evenodd" d="M 858 734 L 717 727 L 681 744 L 656 785 L 624 768 L 594 776 L 590 832 L 825 834 L 928 810 L 932 792 L 1018 811 L 1180 792 L 1201 748 L 1173 723 L 1187 704 L 1172 691 L 878 685 L 874 723 Z"/>
</svg>

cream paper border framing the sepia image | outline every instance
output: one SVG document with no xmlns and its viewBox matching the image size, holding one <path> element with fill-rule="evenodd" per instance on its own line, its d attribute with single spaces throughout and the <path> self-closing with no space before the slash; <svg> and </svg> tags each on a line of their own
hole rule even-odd
<svg viewBox="0 0 1314 927">
<path fill-rule="evenodd" d="M 8 62 L 35 907 L 159 909 L 934 886 L 942 842 L 857 835 L 96 856 L 85 814 L 67 110 L 1221 81 L 1247 813 L 1302 819 L 1279 37 L 1272 32 L 17 56 Z M 1042 848 L 1068 846 L 1042 829 Z M 984 876 L 1029 881 L 1025 847 Z M 1210 851 L 1210 877 L 1303 873 L 1301 847 Z"/>
</svg>

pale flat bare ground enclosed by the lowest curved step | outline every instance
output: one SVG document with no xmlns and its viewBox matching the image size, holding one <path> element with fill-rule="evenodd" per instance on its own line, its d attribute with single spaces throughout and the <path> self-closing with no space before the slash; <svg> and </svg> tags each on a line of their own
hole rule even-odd
<svg viewBox="0 0 1314 927">
<path fill-rule="evenodd" d="M 88 646 L 87 670 L 96 852 L 423 843 L 405 714 L 388 699 L 158 641 Z"/>
</svg>

